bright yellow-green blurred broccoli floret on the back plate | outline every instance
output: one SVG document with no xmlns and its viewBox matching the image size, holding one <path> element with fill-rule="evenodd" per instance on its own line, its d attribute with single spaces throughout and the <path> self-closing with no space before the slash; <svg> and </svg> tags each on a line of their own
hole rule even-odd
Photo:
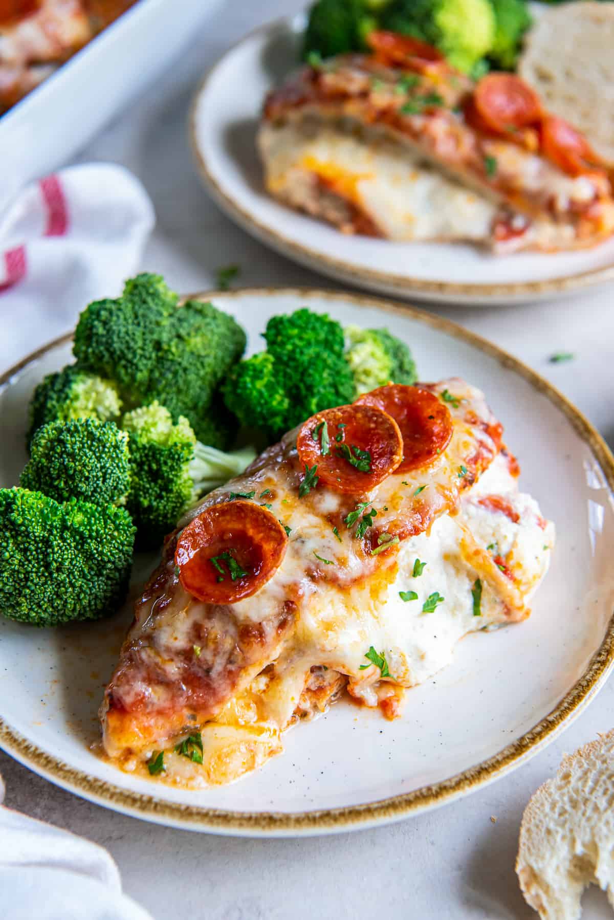
<svg viewBox="0 0 614 920">
<path fill-rule="evenodd" d="M 490 52 L 495 33 L 490 0 L 395 0 L 381 27 L 435 45 L 465 73 Z"/>
</svg>

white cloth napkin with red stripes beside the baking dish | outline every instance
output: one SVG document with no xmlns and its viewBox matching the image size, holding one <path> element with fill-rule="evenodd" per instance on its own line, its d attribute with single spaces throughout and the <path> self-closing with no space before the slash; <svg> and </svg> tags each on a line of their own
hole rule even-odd
<svg viewBox="0 0 614 920">
<path fill-rule="evenodd" d="M 85 164 L 32 182 L 0 214 L 0 371 L 75 326 L 138 270 L 156 218 L 126 169 Z"/>
</svg>

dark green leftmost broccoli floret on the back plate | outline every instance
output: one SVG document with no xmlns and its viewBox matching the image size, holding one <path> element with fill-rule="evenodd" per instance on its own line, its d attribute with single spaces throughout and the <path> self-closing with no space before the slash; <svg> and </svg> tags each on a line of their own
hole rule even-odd
<svg viewBox="0 0 614 920">
<path fill-rule="evenodd" d="M 323 58 L 365 48 L 365 35 L 377 28 L 364 0 L 318 0 L 309 10 L 303 57 Z"/>
</svg>

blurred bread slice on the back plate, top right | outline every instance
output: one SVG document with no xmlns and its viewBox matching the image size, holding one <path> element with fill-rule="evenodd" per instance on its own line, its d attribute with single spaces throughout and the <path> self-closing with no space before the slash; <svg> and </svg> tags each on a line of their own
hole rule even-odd
<svg viewBox="0 0 614 920">
<path fill-rule="evenodd" d="M 614 162 L 614 4 L 567 3 L 539 13 L 518 72 L 547 109 Z"/>
</svg>

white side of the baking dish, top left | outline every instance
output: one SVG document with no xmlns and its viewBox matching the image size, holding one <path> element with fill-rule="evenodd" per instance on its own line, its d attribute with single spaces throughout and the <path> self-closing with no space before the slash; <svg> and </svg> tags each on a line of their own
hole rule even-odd
<svg viewBox="0 0 614 920">
<path fill-rule="evenodd" d="M 160 75 L 221 0 L 138 0 L 0 118 L 0 205 L 60 166 Z"/>
</svg>

